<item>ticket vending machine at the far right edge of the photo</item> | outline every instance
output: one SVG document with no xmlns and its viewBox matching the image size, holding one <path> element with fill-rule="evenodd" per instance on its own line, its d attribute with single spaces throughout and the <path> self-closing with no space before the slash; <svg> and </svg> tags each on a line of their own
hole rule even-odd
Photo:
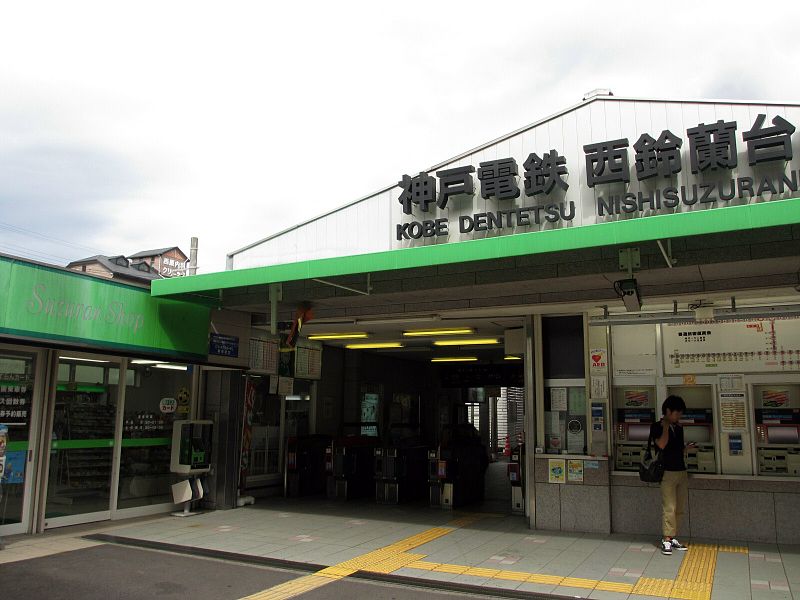
<svg viewBox="0 0 800 600">
<path fill-rule="evenodd" d="M 800 384 L 753 386 L 759 475 L 800 475 Z"/>
</svg>

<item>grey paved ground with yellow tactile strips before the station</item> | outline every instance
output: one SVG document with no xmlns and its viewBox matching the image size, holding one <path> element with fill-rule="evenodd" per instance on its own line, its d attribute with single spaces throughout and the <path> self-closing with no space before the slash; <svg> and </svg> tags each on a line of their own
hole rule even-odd
<svg viewBox="0 0 800 600">
<path fill-rule="evenodd" d="M 119 553 L 173 556 L 153 553 L 155 548 L 222 557 L 237 564 L 196 556 L 171 558 L 176 565 L 179 560 L 187 561 L 185 568 L 176 569 L 187 575 L 157 578 L 164 587 L 143 588 L 148 598 L 170 598 L 170 593 L 178 593 L 178 588 L 170 585 L 196 585 L 206 579 L 213 579 L 215 598 L 282 600 L 349 595 L 388 599 L 421 595 L 417 589 L 409 588 L 413 593 L 404 596 L 403 587 L 363 581 L 371 577 L 414 585 L 427 581 L 433 588 L 471 591 L 484 597 L 552 594 L 604 600 L 800 600 L 800 546 L 689 540 L 689 552 L 665 557 L 656 551 L 654 540 L 645 537 L 531 531 L 521 517 L 500 514 L 451 513 L 367 502 L 271 499 L 255 507 L 189 519 L 164 516 L 106 524 L 103 529 L 91 540 L 67 533 L 13 539 L 9 549 L 0 552 L 0 563 L 22 561 L 16 565 L 29 569 L 28 575 L 20 579 L 6 571 L 15 565 L 0 565 L 0 577 L 13 582 L 30 579 L 38 585 L 39 579 L 44 582 L 47 576 L 67 577 L 71 570 L 80 572 L 86 564 L 99 568 L 108 564 L 109 577 L 119 570 L 125 582 L 135 583 L 137 578 L 144 580 L 150 569 L 139 568 L 139 562 L 133 565 L 131 560 L 119 559 Z M 76 535 L 86 533 L 91 532 L 80 531 Z M 149 550 L 85 546 L 109 541 Z M 48 547 L 63 553 L 62 558 L 35 558 L 47 554 Z M 79 549 L 71 551 L 73 548 Z M 103 558 L 106 552 L 111 553 L 107 560 Z M 100 558 L 91 559 L 93 553 L 99 553 Z M 81 554 L 86 558 L 78 560 L 75 568 L 48 570 L 48 563 L 41 562 L 67 560 Z M 142 564 L 148 560 L 155 572 L 161 573 L 167 566 L 166 559 L 159 562 L 158 558 L 142 559 Z M 204 567 L 212 562 L 224 566 L 219 570 Z M 139 569 L 138 575 L 130 570 L 134 566 Z M 234 567 L 255 575 L 239 576 Z M 82 583 L 80 577 L 73 581 L 75 585 Z M 98 593 L 106 594 L 103 597 L 114 597 L 109 596 L 112 579 L 90 583 L 102 586 Z M 50 589 L 42 585 L 39 592 Z M 58 587 L 55 582 L 50 585 Z M 81 588 L 79 594 L 65 597 L 89 594 L 91 598 L 90 592 L 89 588 Z M 186 597 L 184 592 L 176 597 Z M 34 595 L 30 597 L 42 597 L 35 595 L 35 589 L 31 593 Z M 430 593 L 436 597 L 438 592 Z"/>
</svg>

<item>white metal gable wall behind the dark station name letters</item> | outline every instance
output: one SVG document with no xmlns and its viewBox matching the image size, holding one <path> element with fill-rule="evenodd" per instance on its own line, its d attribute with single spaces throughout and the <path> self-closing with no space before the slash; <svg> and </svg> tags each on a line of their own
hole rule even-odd
<svg viewBox="0 0 800 600">
<path fill-rule="evenodd" d="M 714 176 L 705 175 L 703 178 L 692 174 L 689 140 L 686 130 L 700 123 L 715 123 L 719 119 L 737 121 L 736 143 L 738 151 L 738 166 L 730 172 L 723 172 L 719 178 L 723 181 L 728 181 L 731 178 L 751 176 L 758 181 L 764 174 L 764 169 L 759 168 L 755 174 L 753 173 L 753 169 L 747 161 L 746 144 L 742 140 L 742 133 L 752 127 L 759 113 L 767 115 L 765 127 L 771 126 L 771 120 L 774 116 L 782 115 L 789 122 L 800 128 L 800 106 L 798 105 L 765 106 L 726 102 L 598 99 L 544 121 L 508 139 L 479 148 L 467 156 L 452 160 L 439 167 L 439 169 L 443 169 L 472 165 L 477 170 L 479 164 L 483 161 L 507 157 L 514 158 L 519 168 L 518 184 L 521 189 L 520 197 L 515 200 L 498 201 L 494 198 L 488 200 L 482 198 L 480 195 L 480 182 L 477 179 L 477 173 L 475 173 L 475 194 L 471 198 L 450 198 L 446 209 L 440 210 L 434 205 L 427 213 L 421 212 L 418 206 L 414 206 L 414 214 L 405 215 L 398 201 L 400 188 L 393 187 L 388 191 L 377 193 L 320 219 L 269 238 L 260 244 L 254 245 L 252 248 L 238 252 L 234 256 L 233 266 L 239 269 L 274 265 L 332 256 L 379 252 L 410 246 L 453 243 L 468 239 L 552 229 L 554 227 L 579 227 L 613 219 L 648 216 L 653 211 L 648 209 L 641 214 L 599 217 L 597 215 L 597 197 L 608 195 L 609 193 L 630 192 L 637 194 L 639 191 L 649 194 L 652 188 L 656 186 L 663 189 L 669 185 L 678 187 L 685 185 L 690 188 L 692 184 L 700 181 L 715 181 Z M 664 129 L 671 130 L 672 133 L 683 140 L 681 150 L 682 170 L 680 174 L 671 180 L 657 177 L 640 183 L 636 178 L 633 144 L 643 133 L 649 133 L 654 138 L 657 138 Z M 605 184 L 590 188 L 586 184 L 583 146 L 589 143 L 623 137 L 627 137 L 629 142 L 630 183 L 627 187 L 623 187 L 622 184 Z M 790 164 L 786 165 L 787 173 L 794 169 L 800 169 L 800 133 L 795 133 L 793 142 L 795 157 Z M 523 163 L 530 153 L 536 152 L 542 156 L 543 153 L 548 152 L 550 149 L 557 150 L 567 161 L 566 166 L 569 170 L 569 175 L 566 180 L 569 183 L 569 189 L 563 195 L 563 201 L 575 203 L 576 214 L 573 221 L 556 224 L 543 223 L 541 226 L 533 225 L 531 227 L 506 227 L 499 230 L 473 232 L 463 235 L 458 232 L 458 218 L 461 215 L 472 216 L 478 212 L 509 210 L 536 206 L 550 201 L 560 201 L 562 198 L 556 192 L 554 192 L 550 200 L 543 200 L 541 197 L 529 198 L 524 193 Z M 770 172 L 774 174 L 776 171 L 771 169 Z M 435 175 L 435 172 L 431 171 L 431 174 Z M 402 173 L 387 174 L 387 178 L 391 177 L 397 181 L 401 175 Z M 413 177 L 416 173 L 409 173 L 409 175 Z M 779 197 L 790 197 L 792 195 L 794 194 L 787 192 Z M 763 200 L 742 201 L 734 199 L 729 203 L 717 202 L 715 205 L 735 205 L 747 201 Z M 700 203 L 694 206 L 681 204 L 673 211 L 705 210 L 707 207 L 708 205 L 701 205 Z M 662 210 L 660 212 L 667 211 Z M 398 223 L 441 217 L 447 217 L 450 221 L 450 234 L 447 237 L 403 241 L 396 239 L 395 228 Z"/>
</svg>

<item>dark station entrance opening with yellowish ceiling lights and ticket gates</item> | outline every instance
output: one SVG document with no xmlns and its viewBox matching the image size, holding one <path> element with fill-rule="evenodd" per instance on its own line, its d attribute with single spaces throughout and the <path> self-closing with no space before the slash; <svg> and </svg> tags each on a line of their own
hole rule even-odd
<svg viewBox="0 0 800 600">
<path fill-rule="evenodd" d="M 324 356 L 318 378 L 289 390 L 246 375 L 243 494 L 524 512 L 521 319 L 324 320 L 302 334 L 291 360 L 313 371 Z"/>
</svg>

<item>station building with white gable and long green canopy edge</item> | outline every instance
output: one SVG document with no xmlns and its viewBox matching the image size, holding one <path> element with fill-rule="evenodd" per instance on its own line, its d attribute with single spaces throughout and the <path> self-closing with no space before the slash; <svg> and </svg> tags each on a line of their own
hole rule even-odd
<svg viewBox="0 0 800 600">
<path fill-rule="evenodd" d="M 531 528 L 658 535 L 637 469 L 679 394 L 682 533 L 797 539 L 798 122 L 799 104 L 594 94 L 224 272 L 154 281 L 154 301 L 210 310 L 190 402 L 216 428 L 207 506 L 303 493 L 300 438 L 442 459 L 472 426 L 487 456 L 523 444 L 506 506 Z M 312 473 L 309 494 L 337 494 Z"/>
</svg>

